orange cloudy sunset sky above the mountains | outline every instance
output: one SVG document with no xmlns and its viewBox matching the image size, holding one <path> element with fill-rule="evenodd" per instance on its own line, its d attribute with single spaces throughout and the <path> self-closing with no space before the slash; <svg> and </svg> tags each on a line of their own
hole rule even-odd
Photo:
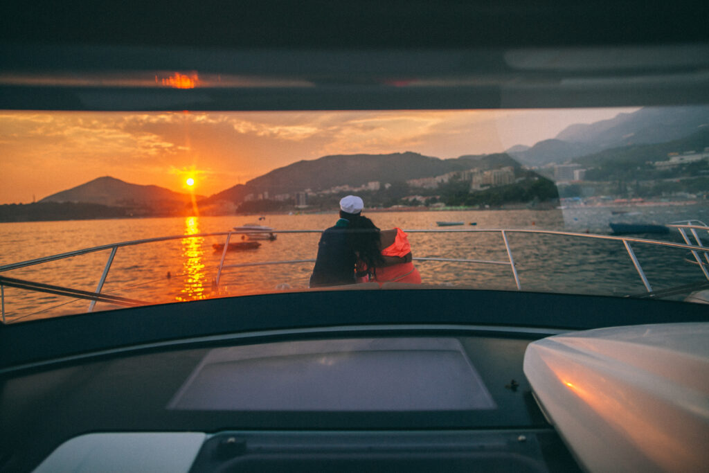
<svg viewBox="0 0 709 473">
<path fill-rule="evenodd" d="M 209 196 L 300 160 L 502 152 L 637 109 L 0 111 L 0 204 L 28 204 L 102 176 Z"/>
</svg>

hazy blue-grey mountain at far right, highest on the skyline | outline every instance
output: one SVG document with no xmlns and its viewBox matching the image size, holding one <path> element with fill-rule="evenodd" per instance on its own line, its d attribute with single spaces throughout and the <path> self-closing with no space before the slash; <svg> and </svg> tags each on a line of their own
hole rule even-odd
<svg viewBox="0 0 709 473">
<path fill-rule="evenodd" d="M 554 139 L 531 148 L 516 145 L 509 155 L 525 165 L 562 164 L 576 157 L 628 145 L 678 140 L 709 126 L 709 106 L 641 108 L 591 124 L 570 125 Z"/>
</svg>

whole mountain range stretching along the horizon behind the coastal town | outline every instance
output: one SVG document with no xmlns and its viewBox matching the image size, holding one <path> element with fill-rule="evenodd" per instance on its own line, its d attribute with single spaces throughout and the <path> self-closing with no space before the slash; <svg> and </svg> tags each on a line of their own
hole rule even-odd
<svg viewBox="0 0 709 473">
<path fill-rule="evenodd" d="M 621 159 L 623 153 L 627 153 L 623 148 L 635 147 L 633 152 L 636 152 L 638 145 L 667 143 L 694 136 L 702 130 L 709 130 L 709 106 L 641 108 L 634 113 L 620 113 L 610 120 L 571 125 L 554 139 L 540 141 L 532 147 L 513 146 L 506 153 L 464 155 L 448 160 L 415 152 L 330 155 L 317 160 L 294 162 L 267 172 L 246 184 L 237 184 L 206 198 L 195 196 L 195 199 L 201 205 L 216 204 L 220 201 L 239 203 L 248 194 L 267 192 L 269 197 L 273 198 L 278 194 L 293 194 L 305 189 L 320 191 L 343 185 L 359 187 L 372 181 L 400 183 L 408 179 L 440 176 L 447 172 L 467 169 L 487 170 L 505 166 L 519 169 L 520 163 L 542 166 L 551 162 L 560 164 L 580 160 L 590 165 L 591 162 L 603 161 L 610 155 L 618 155 L 618 159 Z M 688 143 L 696 141 L 699 145 L 703 143 L 701 140 L 705 139 L 704 136 L 700 133 L 696 140 Z M 679 144 L 678 142 L 674 145 Z M 609 155 L 606 150 L 618 152 L 613 151 Z M 641 148 L 637 152 L 647 153 L 647 150 Z M 581 159 L 582 157 L 588 158 Z M 190 201 L 189 194 L 157 186 L 129 184 L 106 176 L 52 194 L 40 203 L 81 202 L 119 207 L 178 208 L 184 207 Z"/>
</svg>

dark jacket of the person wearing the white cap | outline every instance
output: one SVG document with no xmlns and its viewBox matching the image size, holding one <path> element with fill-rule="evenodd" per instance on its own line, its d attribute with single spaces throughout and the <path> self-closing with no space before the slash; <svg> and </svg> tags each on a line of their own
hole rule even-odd
<svg viewBox="0 0 709 473">
<path fill-rule="evenodd" d="M 335 226 L 323 232 L 318 243 L 318 257 L 311 274 L 310 286 L 340 286 L 354 284 L 354 269 L 356 257 L 347 242 L 347 226 L 345 218 L 335 223 Z"/>
</svg>

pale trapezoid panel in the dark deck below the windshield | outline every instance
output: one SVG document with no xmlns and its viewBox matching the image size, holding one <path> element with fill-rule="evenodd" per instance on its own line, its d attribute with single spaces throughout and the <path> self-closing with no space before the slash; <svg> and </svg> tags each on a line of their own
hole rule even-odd
<svg viewBox="0 0 709 473">
<path fill-rule="evenodd" d="M 168 408 L 442 411 L 496 404 L 453 338 L 308 340 L 208 352 Z"/>
</svg>

